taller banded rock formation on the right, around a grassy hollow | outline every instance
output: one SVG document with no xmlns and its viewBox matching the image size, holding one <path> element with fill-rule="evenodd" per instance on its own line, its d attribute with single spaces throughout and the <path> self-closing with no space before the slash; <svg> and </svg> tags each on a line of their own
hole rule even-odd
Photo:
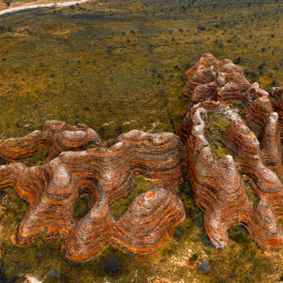
<svg viewBox="0 0 283 283">
<path fill-rule="evenodd" d="M 273 112 L 269 93 L 250 83 L 230 60 L 204 54 L 186 73 L 189 111 L 179 135 L 187 146 L 195 202 L 204 212 L 204 226 L 214 246 L 228 241 L 230 226 L 243 224 L 258 246 L 283 248 L 282 88 L 274 88 Z M 231 101 L 241 101 L 245 120 Z M 207 129 L 208 115 L 220 113 L 231 125 L 223 137 L 230 154 L 215 158 Z M 250 201 L 248 188 L 255 201 Z"/>
</svg>

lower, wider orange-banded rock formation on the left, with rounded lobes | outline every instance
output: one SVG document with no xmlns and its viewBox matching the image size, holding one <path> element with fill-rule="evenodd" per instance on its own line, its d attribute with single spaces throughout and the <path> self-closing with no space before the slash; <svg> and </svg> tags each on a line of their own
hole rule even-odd
<svg viewBox="0 0 283 283">
<path fill-rule="evenodd" d="M 51 148 L 50 161 L 42 166 L 0 166 L 1 187 L 13 184 L 29 203 L 13 243 L 25 246 L 61 237 L 67 258 L 78 262 L 91 260 L 106 243 L 131 253 L 156 251 L 185 219 L 183 203 L 176 194 L 187 175 L 185 147 L 179 137 L 134 130 L 121 134 L 110 148 L 59 154 L 90 142 L 99 143 L 100 139 L 86 125 L 69 127 L 52 121 L 42 132 L 1 144 L 0 154 L 13 161 L 30 155 L 42 144 Z M 136 175 L 154 181 L 156 187 L 139 195 L 115 221 L 111 207 L 129 196 Z M 88 213 L 72 223 L 83 194 L 89 196 Z"/>
</svg>

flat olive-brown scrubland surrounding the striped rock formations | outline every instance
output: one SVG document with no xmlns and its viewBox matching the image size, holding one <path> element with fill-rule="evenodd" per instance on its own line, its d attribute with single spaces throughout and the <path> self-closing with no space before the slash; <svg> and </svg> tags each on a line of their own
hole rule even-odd
<svg viewBox="0 0 283 283">
<path fill-rule="evenodd" d="M 55 119 L 88 124 L 105 140 L 130 129 L 175 132 L 187 109 L 182 95 L 185 71 L 204 52 L 232 59 L 262 88 L 283 85 L 282 18 L 282 1 L 271 0 L 96 0 L 1 16 L 0 138 L 21 137 Z M 42 163 L 44 152 L 25 163 Z M 131 199 L 148 185 L 138 177 Z M 282 251 L 259 250 L 241 226 L 230 229 L 224 250 L 213 248 L 190 183 L 180 187 L 180 195 L 187 220 L 154 255 L 127 255 L 105 247 L 93 261 L 75 264 L 64 259 L 59 240 L 13 246 L 11 234 L 28 205 L 13 189 L 1 192 L 0 278 L 23 282 L 28 274 L 42 282 L 283 280 Z M 115 205 L 117 218 L 127 205 Z M 86 210 L 81 200 L 74 221 Z"/>
</svg>

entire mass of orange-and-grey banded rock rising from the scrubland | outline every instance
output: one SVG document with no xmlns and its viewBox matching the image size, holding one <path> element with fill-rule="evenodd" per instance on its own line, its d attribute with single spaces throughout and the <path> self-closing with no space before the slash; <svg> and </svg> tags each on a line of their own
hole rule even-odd
<svg viewBox="0 0 283 283">
<path fill-rule="evenodd" d="M 76 262 L 107 244 L 153 253 L 185 220 L 178 188 L 190 180 L 214 246 L 224 248 L 229 227 L 241 224 L 260 248 L 283 248 L 283 88 L 267 93 L 210 53 L 186 77 L 188 110 L 178 136 L 132 130 L 105 142 L 87 125 L 47 121 L 42 131 L 1 143 L 9 163 L 0 166 L 0 186 L 13 185 L 29 204 L 13 243 L 59 237 Z M 21 162 L 42 147 L 49 149 L 44 164 Z M 152 185 L 115 220 L 112 208 L 131 195 L 137 175 Z M 88 212 L 74 222 L 82 195 Z"/>
</svg>

